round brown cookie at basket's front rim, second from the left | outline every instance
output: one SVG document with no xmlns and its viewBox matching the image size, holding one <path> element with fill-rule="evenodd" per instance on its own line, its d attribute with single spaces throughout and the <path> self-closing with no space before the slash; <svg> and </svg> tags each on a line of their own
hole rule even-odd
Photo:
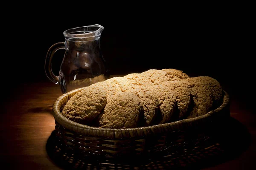
<svg viewBox="0 0 256 170">
<path fill-rule="evenodd" d="M 99 118 L 102 128 L 137 127 L 143 117 L 143 105 L 131 92 L 120 92 L 108 98 L 108 103 Z"/>
</svg>

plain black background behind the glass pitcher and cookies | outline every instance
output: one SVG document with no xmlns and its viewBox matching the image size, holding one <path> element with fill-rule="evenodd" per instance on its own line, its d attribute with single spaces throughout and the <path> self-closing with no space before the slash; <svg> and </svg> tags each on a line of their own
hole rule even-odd
<svg viewBox="0 0 256 170">
<path fill-rule="evenodd" d="M 190 76 L 213 77 L 231 95 L 253 104 L 249 98 L 255 93 L 255 53 L 250 53 L 252 23 L 247 14 L 225 8 L 186 13 L 158 8 L 160 12 L 139 14 L 132 9 L 112 14 L 111 10 L 100 13 L 97 8 L 94 12 L 79 8 L 79 13 L 68 9 L 29 8 L 5 19 L 2 36 L 7 36 L 3 39 L 7 41 L 1 72 L 7 88 L 49 81 L 44 72 L 45 57 L 51 45 L 64 42 L 63 31 L 100 24 L 105 27 L 100 45 L 111 74 L 175 68 Z M 60 50 L 53 59 L 55 74 L 63 56 L 64 50 Z"/>
</svg>

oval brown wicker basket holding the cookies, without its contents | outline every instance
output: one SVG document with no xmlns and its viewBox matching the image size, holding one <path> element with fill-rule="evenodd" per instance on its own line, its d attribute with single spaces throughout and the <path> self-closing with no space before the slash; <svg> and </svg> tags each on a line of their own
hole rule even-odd
<svg viewBox="0 0 256 170">
<path fill-rule="evenodd" d="M 61 114 L 63 105 L 82 89 L 63 94 L 53 106 L 59 148 L 64 155 L 72 156 L 71 160 L 74 157 L 93 158 L 111 163 L 161 158 L 162 161 L 176 160 L 181 164 L 193 162 L 202 154 L 218 152 L 214 150 L 218 146 L 215 140 L 217 129 L 221 129 L 221 125 L 230 118 L 230 99 L 225 92 L 219 108 L 196 118 L 127 129 L 90 127 L 73 122 Z"/>
</svg>

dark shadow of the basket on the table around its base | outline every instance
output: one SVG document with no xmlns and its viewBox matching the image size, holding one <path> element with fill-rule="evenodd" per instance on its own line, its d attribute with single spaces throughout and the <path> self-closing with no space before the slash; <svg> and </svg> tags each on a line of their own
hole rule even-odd
<svg viewBox="0 0 256 170">
<path fill-rule="evenodd" d="M 129 161 L 128 164 L 122 164 L 120 161 L 116 163 L 108 163 L 91 158 L 79 158 L 75 156 L 67 155 L 60 149 L 60 144 L 57 142 L 55 136 L 56 131 L 52 131 L 51 136 L 46 144 L 46 150 L 49 158 L 58 166 L 63 169 L 115 169 L 115 170 L 129 170 L 129 169 L 202 169 L 212 167 L 233 159 L 236 159 L 250 146 L 251 137 L 247 128 L 242 125 L 236 119 L 231 118 L 224 127 L 221 127 L 218 136 L 218 143 L 223 152 L 218 152 L 216 155 L 202 157 L 196 162 L 190 164 L 180 164 L 179 161 L 169 161 L 170 158 L 160 158 L 158 160 L 133 160 Z M 217 137 L 215 136 L 215 137 Z M 129 158 L 127 158 L 129 159 Z M 108 160 L 109 161 L 109 160 Z M 114 160 L 115 161 L 115 160 Z M 113 160 L 111 161 L 113 162 Z"/>
</svg>

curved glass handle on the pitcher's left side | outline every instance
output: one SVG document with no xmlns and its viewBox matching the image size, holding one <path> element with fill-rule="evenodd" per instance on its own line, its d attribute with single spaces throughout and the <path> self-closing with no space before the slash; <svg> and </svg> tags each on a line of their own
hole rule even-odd
<svg viewBox="0 0 256 170">
<path fill-rule="evenodd" d="M 44 71 L 47 75 L 47 77 L 54 82 L 55 84 L 59 84 L 59 76 L 55 76 L 52 72 L 52 57 L 56 51 L 59 49 L 66 49 L 65 48 L 65 42 L 58 42 L 56 44 L 53 44 L 46 55 L 45 63 L 44 63 Z"/>
</svg>

